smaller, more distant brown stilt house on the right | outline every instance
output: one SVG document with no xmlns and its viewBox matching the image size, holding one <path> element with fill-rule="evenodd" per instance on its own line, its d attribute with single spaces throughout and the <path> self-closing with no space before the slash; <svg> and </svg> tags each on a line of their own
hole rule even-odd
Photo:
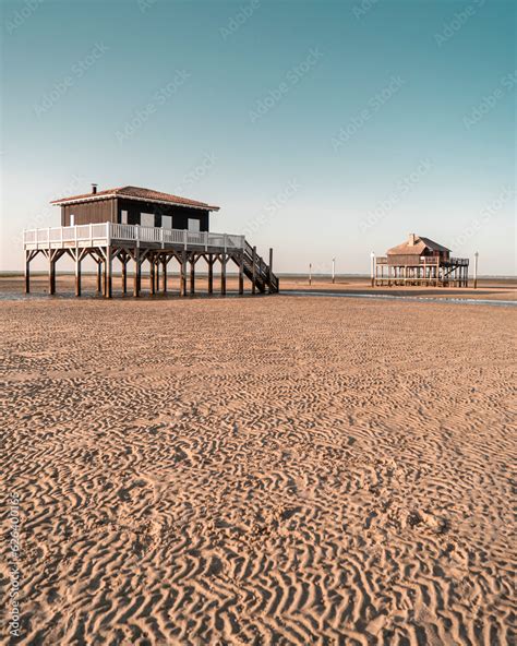
<svg viewBox="0 0 517 646">
<path fill-rule="evenodd" d="M 468 287 L 468 258 L 450 258 L 450 250 L 423 236 L 408 240 L 374 259 L 373 285 Z"/>
</svg>

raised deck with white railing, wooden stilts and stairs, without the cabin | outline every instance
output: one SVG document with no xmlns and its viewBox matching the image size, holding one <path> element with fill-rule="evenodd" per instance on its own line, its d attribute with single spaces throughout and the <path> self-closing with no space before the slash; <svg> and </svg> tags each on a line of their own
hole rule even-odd
<svg viewBox="0 0 517 646">
<path fill-rule="evenodd" d="M 97 291 L 112 296 L 112 263 L 122 265 L 122 292 L 128 291 L 128 264 L 133 262 L 133 296 L 142 289 L 142 265 L 149 265 L 149 291 L 167 292 L 170 261 L 179 263 L 180 295 L 195 294 L 195 266 L 203 259 L 208 270 L 208 294 L 214 292 L 214 265 L 220 263 L 220 294 L 226 294 L 226 273 L 229 261 L 239 270 L 239 294 L 244 291 L 244 277 L 252 284 L 252 292 L 269 294 L 279 289 L 273 273 L 273 250 L 267 264 L 244 236 L 141 227 L 113 223 L 29 229 L 23 232 L 25 253 L 25 292 L 31 290 L 31 262 L 41 253 L 49 263 L 49 294 L 56 292 L 57 262 L 69 255 L 75 263 L 75 295 L 81 296 L 81 265 L 92 258 L 97 263 Z M 188 270 L 190 286 L 188 288 Z M 160 276 L 161 274 L 161 276 Z M 160 279 L 161 278 L 161 279 Z"/>
</svg>

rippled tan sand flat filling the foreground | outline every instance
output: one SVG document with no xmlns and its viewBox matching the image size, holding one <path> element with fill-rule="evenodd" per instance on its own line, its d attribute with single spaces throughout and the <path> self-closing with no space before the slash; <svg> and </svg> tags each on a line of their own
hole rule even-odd
<svg viewBox="0 0 517 646">
<path fill-rule="evenodd" d="M 515 309 L 0 307 L 13 643 L 512 643 Z"/>
</svg>

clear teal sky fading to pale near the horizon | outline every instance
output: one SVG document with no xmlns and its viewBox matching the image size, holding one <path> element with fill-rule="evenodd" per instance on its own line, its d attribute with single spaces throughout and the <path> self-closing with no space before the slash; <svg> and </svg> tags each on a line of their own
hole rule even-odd
<svg viewBox="0 0 517 646">
<path fill-rule="evenodd" d="M 516 3 L 0 5 L 0 270 L 97 182 L 218 204 L 278 273 L 368 273 L 409 232 L 517 273 Z"/>
</svg>

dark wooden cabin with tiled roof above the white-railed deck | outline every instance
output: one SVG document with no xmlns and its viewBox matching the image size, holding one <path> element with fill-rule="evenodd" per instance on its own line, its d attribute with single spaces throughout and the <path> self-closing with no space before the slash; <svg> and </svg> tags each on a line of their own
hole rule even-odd
<svg viewBox="0 0 517 646">
<path fill-rule="evenodd" d="M 205 202 L 179 198 L 139 187 L 121 187 L 55 200 L 61 207 L 61 226 L 100 223 L 164 227 L 167 229 L 209 230 L 211 211 L 219 211 Z"/>
</svg>

